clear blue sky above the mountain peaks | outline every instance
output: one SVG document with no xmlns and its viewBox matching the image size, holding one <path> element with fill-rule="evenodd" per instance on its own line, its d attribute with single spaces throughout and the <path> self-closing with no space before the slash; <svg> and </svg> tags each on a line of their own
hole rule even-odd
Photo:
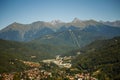
<svg viewBox="0 0 120 80">
<path fill-rule="evenodd" d="M 0 29 L 13 22 L 120 20 L 120 0 L 0 0 Z"/>
</svg>

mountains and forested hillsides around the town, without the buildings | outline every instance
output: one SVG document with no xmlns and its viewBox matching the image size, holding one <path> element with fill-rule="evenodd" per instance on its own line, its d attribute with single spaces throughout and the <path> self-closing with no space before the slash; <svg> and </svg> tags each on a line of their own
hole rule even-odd
<svg viewBox="0 0 120 80">
<path fill-rule="evenodd" d="M 38 62 L 56 55 L 72 55 L 73 67 L 82 67 L 100 80 L 119 80 L 120 37 L 117 36 L 120 36 L 120 21 L 75 18 L 67 23 L 60 20 L 14 22 L 0 30 L 0 73 L 24 70 L 25 65 L 16 60 Z M 11 65 L 11 61 L 15 64 Z"/>
</svg>

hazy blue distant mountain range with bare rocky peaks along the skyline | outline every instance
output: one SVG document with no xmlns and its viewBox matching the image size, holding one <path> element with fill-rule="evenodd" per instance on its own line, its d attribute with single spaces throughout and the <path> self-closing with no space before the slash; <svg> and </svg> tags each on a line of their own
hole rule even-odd
<svg viewBox="0 0 120 80">
<path fill-rule="evenodd" d="M 119 21 L 117 25 L 118 23 Z M 113 24 L 95 20 L 82 21 L 74 18 L 73 21 L 67 23 L 60 20 L 53 20 L 51 22 L 37 21 L 31 24 L 15 22 L 0 31 L 0 39 L 13 41 L 32 41 L 38 39 L 37 41 L 40 43 L 46 43 L 47 41 L 47 43 L 50 44 L 55 44 L 55 42 L 58 44 L 66 42 L 71 44 L 70 30 L 80 45 L 86 44 L 86 42 L 88 44 L 96 39 L 120 36 L 120 27 L 115 27 Z M 52 38 L 46 38 L 48 35 L 52 36 Z M 61 36 L 58 37 L 58 35 Z M 72 43 L 74 42 L 75 41 L 72 40 Z"/>
</svg>

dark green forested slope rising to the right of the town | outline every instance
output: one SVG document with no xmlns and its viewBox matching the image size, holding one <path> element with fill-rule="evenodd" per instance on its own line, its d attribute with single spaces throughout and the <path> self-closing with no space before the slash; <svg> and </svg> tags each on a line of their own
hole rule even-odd
<svg viewBox="0 0 120 80">
<path fill-rule="evenodd" d="M 73 60 L 75 67 L 91 72 L 100 80 L 120 79 L 120 37 L 95 41 L 80 51 Z"/>
</svg>

